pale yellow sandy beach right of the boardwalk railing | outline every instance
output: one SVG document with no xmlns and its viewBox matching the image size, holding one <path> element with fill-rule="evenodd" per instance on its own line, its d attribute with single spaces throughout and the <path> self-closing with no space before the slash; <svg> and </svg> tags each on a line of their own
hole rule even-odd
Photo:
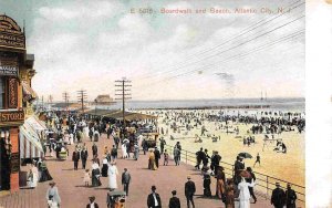
<svg viewBox="0 0 332 208">
<path fill-rule="evenodd" d="M 210 113 L 209 111 L 205 112 Z M 246 152 L 253 157 L 251 159 L 245 159 L 246 167 L 253 167 L 256 155 L 259 153 L 261 156 L 261 166 L 256 165 L 253 171 L 266 174 L 300 186 L 304 186 L 305 184 L 304 133 L 299 134 L 297 128 L 292 132 L 282 132 L 279 135 L 274 135 L 276 139 L 282 139 L 287 146 L 287 154 L 283 154 L 273 150 L 277 143 L 276 141 L 267 142 L 264 145 L 264 134 L 255 134 L 256 143 L 250 146 L 243 146 L 242 137 L 249 136 L 247 131 L 252 124 L 245 125 L 240 123 L 230 123 L 229 126 L 231 126 L 231 129 L 235 127 L 239 128 L 239 134 L 236 135 L 236 133 L 227 134 L 226 129 L 219 129 L 218 125 L 220 125 L 220 123 L 204 121 L 203 125 L 208 132 L 205 133 L 206 136 L 200 136 L 201 126 L 194 127 L 189 132 L 186 131 L 185 127 L 181 127 L 180 133 L 178 133 L 178 131 L 174 133 L 169 127 L 169 123 L 166 125 L 163 122 L 164 118 L 163 115 L 159 115 L 158 127 L 163 127 L 165 132 L 168 128 L 168 134 L 164 135 L 167 145 L 174 146 L 176 142 L 180 142 L 183 149 L 185 150 L 196 153 L 203 147 L 208 149 L 209 155 L 212 154 L 212 150 L 218 150 L 222 157 L 221 160 L 230 164 L 235 163 L 236 156 L 239 153 Z M 222 125 L 225 125 L 225 122 Z M 195 143 L 196 134 L 199 135 L 203 143 Z M 207 137 L 208 134 L 217 137 L 220 136 L 220 141 L 212 142 L 211 137 Z M 175 138 L 174 141 L 170 139 L 170 135 Z"/>
</svg>

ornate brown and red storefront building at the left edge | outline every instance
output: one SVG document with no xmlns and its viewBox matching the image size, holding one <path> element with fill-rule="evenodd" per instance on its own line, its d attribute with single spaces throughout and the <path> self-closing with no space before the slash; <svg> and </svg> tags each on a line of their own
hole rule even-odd
<svg viewBox="0 0 332 208">
<path fill-rule="evenodd" d="M 24 29 L 0 14 L 0 191 L 19 190 L 20 126 L 35 98 L 34 56 L 27 54 Z"/>
</svg>

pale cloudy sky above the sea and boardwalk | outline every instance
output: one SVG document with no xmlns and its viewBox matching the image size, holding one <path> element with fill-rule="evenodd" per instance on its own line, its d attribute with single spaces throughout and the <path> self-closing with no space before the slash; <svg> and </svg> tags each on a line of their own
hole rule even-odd
<svg viewBox="0 0 332 208">
<path fill-rule="evenodd" d="M 133 100 L 304 96 L 303 1 L 0 0 L 0 13 L 25 21 L 39 96 L 114 97 L 123 77 Z"/>
</svg>

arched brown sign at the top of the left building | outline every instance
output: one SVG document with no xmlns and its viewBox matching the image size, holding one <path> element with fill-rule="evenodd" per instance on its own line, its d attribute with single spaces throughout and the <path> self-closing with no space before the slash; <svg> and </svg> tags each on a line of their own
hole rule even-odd
<svg viewBox="0 0 332 208">
<path fill-rule="evenodd" d="M 23 32 L 18 23 L 7 15 L 0 15 L 0 46 L 25 49 Z"/>
</svg>

